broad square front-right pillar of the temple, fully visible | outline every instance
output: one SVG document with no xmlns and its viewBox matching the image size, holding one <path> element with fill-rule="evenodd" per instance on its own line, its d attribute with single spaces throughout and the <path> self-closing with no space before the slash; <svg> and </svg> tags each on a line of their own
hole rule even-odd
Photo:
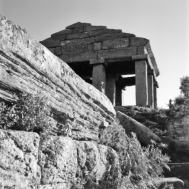
<svg viewBox="0 0 189 189">
<path fill-rule="evenodd" d="M 136 75 L 136 105 L 148 105 L 148 79 L 147 79 L 147 63 L 145 60 L 135 62 Z"/>
</svg>

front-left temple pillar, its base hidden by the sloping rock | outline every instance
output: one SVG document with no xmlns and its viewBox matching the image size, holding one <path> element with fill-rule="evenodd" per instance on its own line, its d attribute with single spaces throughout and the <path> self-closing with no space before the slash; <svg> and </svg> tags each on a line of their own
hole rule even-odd
<svg viewBox="0 0 189 189">
<path fill-rule="evenodd" d="M 106 71 L 103 64 L 93 65 L 92 84 L 99 91 L 105 94 L 106 90 Z"/>
</svg>

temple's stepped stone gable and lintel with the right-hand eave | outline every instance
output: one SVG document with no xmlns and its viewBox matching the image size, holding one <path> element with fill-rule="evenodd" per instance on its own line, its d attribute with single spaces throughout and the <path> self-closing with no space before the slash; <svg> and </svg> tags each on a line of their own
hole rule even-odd
<svg viewBox="0 0 189 189">
<path fill-rule="evenodd" d="M 41 43 L 67 63 L 89 61 L 96 64 L 145 59 L 154 77 L 160 73 L 150 41 L 120 29 L 77 22 L 53 33 Z"/>
</svg>

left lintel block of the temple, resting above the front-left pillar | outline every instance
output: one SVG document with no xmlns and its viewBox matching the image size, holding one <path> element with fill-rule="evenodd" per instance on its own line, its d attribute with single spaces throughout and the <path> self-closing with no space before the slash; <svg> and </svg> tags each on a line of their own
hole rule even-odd
<svg viewBox="0 0 189 189">
<path fill-rule="evenodd" d="M 60 58 L 69 63 L 69 62 L 84 62 L 90 61 L 90 59 L 96 59 L 97 52 L 96 51 L 88 51 L 88 52 L 80 52 L 80 53 L 65 53 L 60 56 Z"/>
</svg>

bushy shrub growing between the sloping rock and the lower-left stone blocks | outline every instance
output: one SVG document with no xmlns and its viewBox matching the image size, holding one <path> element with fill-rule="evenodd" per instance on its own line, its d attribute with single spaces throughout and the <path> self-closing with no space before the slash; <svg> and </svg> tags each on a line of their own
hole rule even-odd
<svg viewBox="0 0 189 189">
<path fill-rule="evenodd" d="M 47 98 L 40 94 L 20 94 L 17 102 L 2 104 L 0 108 L 0 129 L 48 132 L 52 120 Z"/>
</svg>

